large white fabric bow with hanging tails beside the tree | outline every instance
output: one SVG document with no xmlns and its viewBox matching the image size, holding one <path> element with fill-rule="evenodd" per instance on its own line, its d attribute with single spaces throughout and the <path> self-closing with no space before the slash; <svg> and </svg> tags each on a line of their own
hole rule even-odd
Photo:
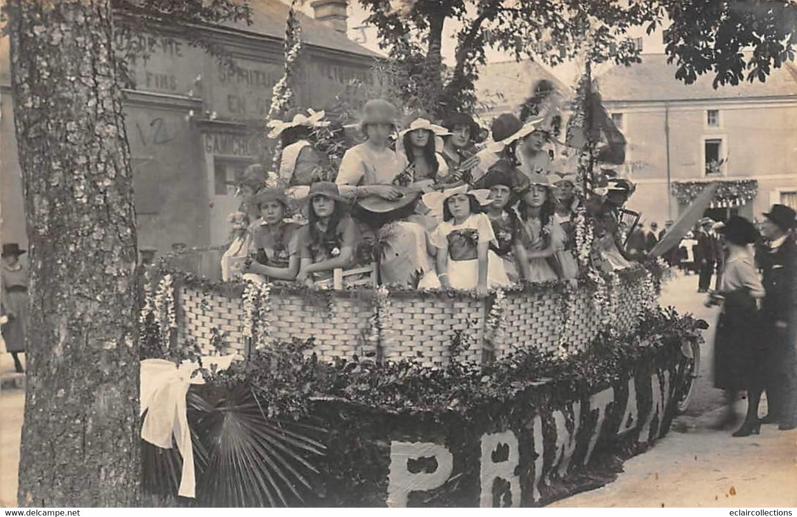
<svg viewBox="0 0 797 517">
<path fill-rule="evenodd" d="M 210 370 L 226 370 L 236 354 L 220 357 L 203 357 L 202 365 Z M 186 394 L 191 384 L 204 384 L 202 375 L 196 374 L 199 365 L 188 360 L 177 365 L 165 359 L 144 359 L 141 362 L 141 412 L 147 413 L 141 427 L 141 438 L 160 448 L 171 448 L 174 435 L 180 456 L 183 456 L 183 474 L 178 495 L 196 496 L 194 476 L 194 445 L 186 414 Z M 193 377 L 192 377 L 193 375 Z"/>
</svg>

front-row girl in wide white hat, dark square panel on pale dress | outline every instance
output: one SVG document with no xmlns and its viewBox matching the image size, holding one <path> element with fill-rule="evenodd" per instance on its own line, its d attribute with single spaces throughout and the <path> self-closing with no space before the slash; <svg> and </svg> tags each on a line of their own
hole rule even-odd
<svg viewBox="0 0 797 517">
<path fill-rule="evenodd" d="M 504 264 L 489 245 L 495 240 L 493 225 L 481 213 L 489 191 L 467 185 L 423 195 L 427 206 L 441 206 L 443 222 L 430 235 L 438 249 L 437 270 L 443 288 L 476 289 L 485 296 L 489 288 L 510 285 Z"/>
</svg>

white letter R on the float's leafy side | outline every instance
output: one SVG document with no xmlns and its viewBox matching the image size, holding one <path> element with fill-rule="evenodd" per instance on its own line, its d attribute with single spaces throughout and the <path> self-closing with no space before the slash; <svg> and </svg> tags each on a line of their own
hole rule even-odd
<svg viewBox="0 0 797 517">
<path fill-rule="evenodd" d="M 512 431 L 484 434 L 481 437 L 481 495 L 479 506 L 493 507 L 493 484 L 501 479 L 509 483 L 509 507 L 520 507 L 520 478 L 515 469 L 520 463 L 517 437 Z M 498 506 L 501 506 L 499 502 Z"/>
</svg>

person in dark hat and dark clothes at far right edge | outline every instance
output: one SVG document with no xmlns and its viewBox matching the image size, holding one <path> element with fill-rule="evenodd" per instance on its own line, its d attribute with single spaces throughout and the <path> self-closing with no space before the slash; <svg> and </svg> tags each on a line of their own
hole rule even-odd
<svg viewBox="0 0 797 517">
<path fill-rule="evenodd" d="M 770 336 L 771 374 L 767 386 L 769 414 L 763 423 L 779 422 L 779 429 L 797 426 L 797 241 L 795 211 L 773 205 L 764 213 L 761 234 L 767 244 L 758 263 L 767 294 L 761 306 L 764 331 Z"/>
</svg>

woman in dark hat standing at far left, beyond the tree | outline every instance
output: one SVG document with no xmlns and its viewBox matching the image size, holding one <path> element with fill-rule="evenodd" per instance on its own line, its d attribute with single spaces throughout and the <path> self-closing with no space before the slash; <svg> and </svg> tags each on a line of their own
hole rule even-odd
<svg viewBox="0 0 797 517">
<path fill-rule="evenodd" d="M 16 243 L 2 246 L 2 292 L 0 292 L 0 308 L 6 316 L 2 326 L 2 338 L 6 342 L 6 350 L 14 356 L 14 369 L 22 373 L 22 362 L 19 353 L 25 351 L 25 335 L 28 331 L 28 272 L 19 256 L 26 253 Z"/>
</svg>

